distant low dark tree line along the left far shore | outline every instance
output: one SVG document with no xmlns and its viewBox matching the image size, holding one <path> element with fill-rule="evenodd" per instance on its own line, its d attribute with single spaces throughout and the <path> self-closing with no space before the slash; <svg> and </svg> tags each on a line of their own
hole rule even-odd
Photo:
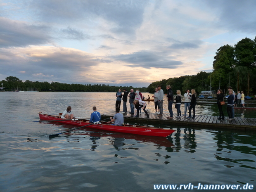
<svg viewBox="0 0 256 192">
<path fill-rule="evenodd" d="M 137 89 L 131 86 L 129 87 L 122 87 L 122 86 L 109 86 L 104 84 L 67 84 L 67 83 L 58 83 L 52 82 L 48 83 L 47 81 L 43 82 L 32 82 L 26 80 L 22 82 L 17 77 L 9 76 L 0 82 L 3 83 L 6 91 L 11 91 L 15 88 L 22 89 L 24 91 L 28 90 L 29 88 L 35 88 L 37 91 L 59 91 L 59 92 L 117 92 L 119 89 L 123 91 L 124 88 L 130 91 L 130 89 Z M 140 92 L 146 92 L 147 88 L 138 88 Z"/>
</svg>

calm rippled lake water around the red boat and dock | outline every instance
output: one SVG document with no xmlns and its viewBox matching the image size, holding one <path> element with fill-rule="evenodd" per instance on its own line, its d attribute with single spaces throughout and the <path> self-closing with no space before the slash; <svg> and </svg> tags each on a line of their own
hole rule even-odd
<svg viewBox="0 0 256 192">
<path fill-rule="evenodd" d="M 72 127 L 32 122 L 39 111 L 58 114 L 70 105 L 76 117 L 87 118 L 93 106 L 114 111 L 115 93 L 0 92 L 0 98 L 1 192 L 149 192 L 154 184 L 189 183 L 256 187 L 256 133 L 170 125 L 176 131 L 168 138 L 87 128 L 49 140 Z M 149 108 L 154 111 L 153 103 Z M 247 111 L 236 116 L 254 117 Z M 198 105 L 197 114 L 217 115 L 218 109 Z"/>
</svg>

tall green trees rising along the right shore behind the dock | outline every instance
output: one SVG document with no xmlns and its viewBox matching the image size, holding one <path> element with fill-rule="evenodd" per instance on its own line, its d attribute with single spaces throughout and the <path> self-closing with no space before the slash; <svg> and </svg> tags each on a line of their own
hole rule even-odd
<svg viewBox="0 0 256 192">
<path fill-rule="evenodd" d="M 204 90 L 244 91 L 246 95 L 256 93 L 256 37 L 243 38 L 234 46 L 223 45 L 213 57 L 213 72 L 200 71 L 196 75 L 163 79 L 151 83 L 147 90 L 153 93 L 158 85 L 164 88 L 171 85 L 173 91 L 195 89 L 197 94 Z"/>
</svg>

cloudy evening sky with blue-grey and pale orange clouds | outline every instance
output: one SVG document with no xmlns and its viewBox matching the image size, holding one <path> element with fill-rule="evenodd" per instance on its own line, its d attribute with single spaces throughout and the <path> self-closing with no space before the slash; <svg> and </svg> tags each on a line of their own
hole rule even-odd
<svg viewBox="0 0 256 192">
<path fill-rule="evenodd" d="M 256 36 L 255 0 L 0 0 L 0 81 L 147 87 Z"/>
</svg>

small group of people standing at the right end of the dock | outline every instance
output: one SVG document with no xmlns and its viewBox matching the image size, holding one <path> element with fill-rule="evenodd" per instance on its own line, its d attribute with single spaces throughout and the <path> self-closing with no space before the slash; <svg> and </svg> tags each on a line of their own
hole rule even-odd
<svg viewBox="0 0 256 192">
<path fill-rule="evenodd" d="M 227 113 L 228 113 L 228 120 L 232 120 L 235 116 L 234 106 L 235 107 L 244 107 L 244 92 L 237 91 L 237 93 L 232 89 L 232 87 L 228 87 L 228 105 L 227 105 Z M 224 112 L 222 110 L 223 102 L 224 101 L 224 94 L 221 89 L 217 91 L 217 104 L 220 115 L 218 117 L 219 120 L 225 119 Z"/>
</svg>

